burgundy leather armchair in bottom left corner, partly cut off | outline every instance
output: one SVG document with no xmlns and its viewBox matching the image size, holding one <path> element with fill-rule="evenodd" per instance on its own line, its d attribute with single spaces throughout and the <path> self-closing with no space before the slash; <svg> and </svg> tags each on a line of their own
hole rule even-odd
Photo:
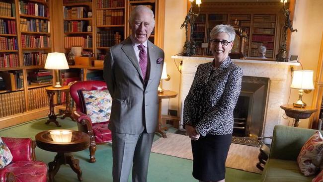
<svg viewBox="0 0 323 182">
<path fill-rule="evenodd" d="M 47 166 L 36 161 L 36 143 L 30 138 L 1 137 L 12 154 L 12 162 L 0 168 L 0 182 L 46 182 Z"/>
</svg>

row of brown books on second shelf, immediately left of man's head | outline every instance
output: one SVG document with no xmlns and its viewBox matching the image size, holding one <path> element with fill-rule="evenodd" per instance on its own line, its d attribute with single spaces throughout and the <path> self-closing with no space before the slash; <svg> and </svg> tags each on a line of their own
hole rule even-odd
<svg viewBox="0 0 323 182">
<path fill-rule="evenodd" d="M 123 9 L 96 11 L 96 25 L 122 25 L 123 21 Z"/>
</svg>

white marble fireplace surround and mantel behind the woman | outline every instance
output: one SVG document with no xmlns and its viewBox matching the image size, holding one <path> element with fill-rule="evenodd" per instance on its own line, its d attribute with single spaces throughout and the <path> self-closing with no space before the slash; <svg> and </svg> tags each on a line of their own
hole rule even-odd
<svg viewBox="0 0 323 182">
<path fill-rule="evenodd" d="M 182 104 L 193 82 L 197 66 L 210 62 L 213 58 L 184 56 L 172 56 L 171 58 L 183 61 L 179 91 L 181 103 L 180 118 L 182 122 Z M 273 128 L 276 124 L 287 125 L 286 120 L 282 118 L 284 111 L 279 106 L 286 104 L 288 99 L 291 80 L 290 67 L 299 66 L 300 63 L 235 59 L 232 61 L 242 68 L 244 76 L 266 77 L 270 79 L 263 136 L 272 136 Z M 265 142 L 269 143 L 270 140 Z"/>
</svg>

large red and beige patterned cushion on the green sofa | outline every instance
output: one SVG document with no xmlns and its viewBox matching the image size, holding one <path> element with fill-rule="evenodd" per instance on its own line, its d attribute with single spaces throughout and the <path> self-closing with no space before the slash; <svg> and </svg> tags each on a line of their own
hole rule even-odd
<svg viewBox="0 0 323 182">
<path fill-rule="evenodd" d="M 323 157 L 323 137 L 319 131 L 304 144 L 297 158 L 298 166 L 305 176 L 314 175 Z"/>
</svg>

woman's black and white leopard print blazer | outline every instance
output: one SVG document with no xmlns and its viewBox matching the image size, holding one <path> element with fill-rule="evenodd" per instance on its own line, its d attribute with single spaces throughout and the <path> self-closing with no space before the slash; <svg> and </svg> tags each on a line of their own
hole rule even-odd
<svg viewBox="0 0 323 182">
<path fill-rule="evenodd" d="M 184 101 L 183 126 L 192 125 L 202 135 L 233 132 L 233 111 L 242 82 L 242 69 L 230 57 L 219 68 L 213 62 L 197 67 L 194 81 Z"/>
</svg>

